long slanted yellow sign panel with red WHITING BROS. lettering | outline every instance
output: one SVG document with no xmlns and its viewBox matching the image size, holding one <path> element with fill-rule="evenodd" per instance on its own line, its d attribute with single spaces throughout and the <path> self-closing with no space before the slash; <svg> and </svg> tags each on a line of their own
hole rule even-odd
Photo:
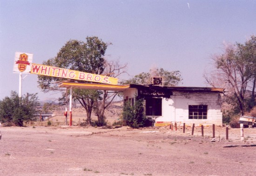
<svg viewBox="0 0 256 176">
<path fill-rule="evenodd" d="M 44 76 L 51 76 L 51 77 L 58 77 L 58 78 L 67 78 L 67 79 L 75 79 L 81 81 L 89 81 L 89 82 L 96 82 L 96 83 L 103 83 L 103 84 L 110 84 L 110 85 L 117 85 L 118 79 L 86 73 L 86 72 L 79 72 L 74 70 L 68 70 L 64 68 L 49 66 L 49 65 L 40 65 L 40 64 L 31 64 L 31 72 L 33 74 L 44 75 Z"/>
</svg>

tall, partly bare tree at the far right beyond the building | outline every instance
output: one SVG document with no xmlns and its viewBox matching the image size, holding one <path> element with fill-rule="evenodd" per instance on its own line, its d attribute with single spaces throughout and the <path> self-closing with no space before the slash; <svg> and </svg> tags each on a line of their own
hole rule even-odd
<svg viewBox="0 0 256 176">
<path fill-rule="evenodd" d="M 234 110 L 241 114 L 250 111 L 256 104 L 256 36 L 245 44 L 226 45 L 213 60 L 215 69 L 204 75 L 207 83 L 224 87 L 228 91 L 225 102 Z"/>
</svg>

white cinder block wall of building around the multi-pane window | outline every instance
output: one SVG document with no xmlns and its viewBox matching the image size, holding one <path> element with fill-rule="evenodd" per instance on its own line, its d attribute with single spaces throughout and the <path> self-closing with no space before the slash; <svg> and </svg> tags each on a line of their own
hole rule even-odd
<svg viewBox="0 0 256 176">
<path fill-rule="evenodd" d="M 215 92 L 182 93 L 173 92 L 171 98 L 162 99 L 162 117 L 156 122 L 177 122 L 177 124 L 222 125 L 220 94 Z M 207 119 L 189 119 L 189 105 L 208 105 Z"/>
</svg>

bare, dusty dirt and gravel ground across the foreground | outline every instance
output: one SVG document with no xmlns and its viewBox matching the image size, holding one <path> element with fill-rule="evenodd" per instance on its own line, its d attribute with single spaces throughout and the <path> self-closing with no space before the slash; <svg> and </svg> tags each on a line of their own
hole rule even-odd
<svg viewBox="0 0 256 176">
<path fill-rule="evenodd" d="M 256 129 L 0 127 L 1 176 L 255 176 Z"/>
</svg>

